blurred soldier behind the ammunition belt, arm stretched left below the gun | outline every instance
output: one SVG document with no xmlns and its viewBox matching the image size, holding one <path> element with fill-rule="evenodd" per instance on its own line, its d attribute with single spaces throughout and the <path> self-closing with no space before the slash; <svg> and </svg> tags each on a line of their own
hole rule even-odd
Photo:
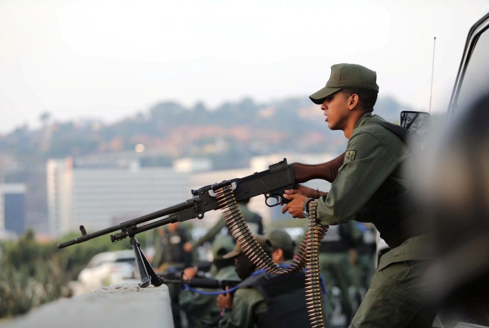
<svg viewBox="0 0 489 328">
<path fill-rule="evenodd" d="M 249 199 L 245 199 L 241 201 L 238 205 L 240 207 L 241 213 L 243 214 L 244 221 L 249 226 L 249 229 L 253 234 L 263 235 L 263 223 L 262 217 L 255 212 L 252 212 L 248 208 Z M 226 222 L 224 218 L 220 218 L 216 224 L 207 231 L 207 233 L 201 237 L 198 241 L 192 243 L 185 243 L 184 249 L 186 252 L 190 252 L 191 250 L 195 250 L 197 247 L 202 246 L 205 242 L 211 242 L 214 237 L 222 230 L 223 227 L 226 226 Z"/>
</svg>

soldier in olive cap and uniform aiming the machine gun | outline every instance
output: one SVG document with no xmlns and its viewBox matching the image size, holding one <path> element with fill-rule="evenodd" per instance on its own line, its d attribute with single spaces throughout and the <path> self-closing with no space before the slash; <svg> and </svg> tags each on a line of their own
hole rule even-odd
<svg viewBox="0 0 489 328">
<path fill-rule="evenodd" d="M 435 313 L 425 304 L 429 289 L 422 279 L 428 237 L 408 197 L 406 130 L 372 115 L 378 93 L 374 71 L 355 64 L 331 70 L 326 86 L 310 98 L 321 104 L 329 128 L 343 130 L 349 141 L 329 193 L 317 200 L 318 221 L 372 222 L 391 248 L 380 258 L 350 327 L 430 327 Z M 306 198 L 316 195 L 304 186 L 288 190 L 284 197 L 292 201 L 283 211 L 303 217 Z"/>
</svg>

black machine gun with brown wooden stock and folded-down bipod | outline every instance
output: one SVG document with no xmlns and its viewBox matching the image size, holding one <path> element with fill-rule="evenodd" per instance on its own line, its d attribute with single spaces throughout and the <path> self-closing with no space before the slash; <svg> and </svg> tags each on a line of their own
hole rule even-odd
<svg viewBox="0 0 489 328">
<path fill-rule="evenodd" d="M 333 182 L 338 174 L 339 167 L 343 164 L 343 159 L 344 153 L 323 164 L 307 165 L 299 163 L 288 164 L 287 159 L 284 158 L 283 161 L 270 165 L 265 171 L 192 190 L 193 197 L 183 203 L 122 222 L 118 225 L 93 233 L 87 233 L 85 227 L 81 225 L 82 236 L 58 244 L 58 248 L 80 244 L 90 239 L 119 231 L 111 234 L 111 241 L 115 243 L 126 237 L 130 238 L 130 244 L 133 247 L 136 264 L 141 276 L 139 286 L 147 287 L 150 283 L 154 286 L 160 286 L 163 284 L 163 279 L 156 274 L 142 252 L 140 244 L 135 238 L 136 234 L 170 223 L 183 222 L 194 218 L 202 219 L 205 212 L 221 208 L 222 201 L 217 198 L 216 191 L 223 186 L 232 187 L 234 197 L 238 202 L 263 194 L 265 195 L 267 206 L 280 205 L 282 202 L 288 202 L 288 200 L 282 198 L 284 191 L 293 188 L 298 183 L 312 179 L 323 179 Z M 164 218 L 141 225 L 161 217 Z"/>
</svg>

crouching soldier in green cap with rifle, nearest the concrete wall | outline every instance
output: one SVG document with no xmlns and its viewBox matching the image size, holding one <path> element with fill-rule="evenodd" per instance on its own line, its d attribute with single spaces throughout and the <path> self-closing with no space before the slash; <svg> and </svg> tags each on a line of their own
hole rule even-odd
<svg viewBox="0 0 489 328">
<path fill-rule="evenodd" d="M 238 275 L 234 269 L 233 259 L 223 259 L 222 256 L 234 249 L 234 241 L 229 235 L 222 235 L 216 238 L 212 244 L 213 265 L 217 269 L 213 277 L 217 280 L 238 280 Z M 196 269 L 184 270 L 183 279 L 192 279 Z M 180 292 L 180 307 L 185 312 L 189 327 L 204 327 L 204 322 L 213 321 L 219 315 L 219 308 L 216 305 L 217 296 L 202 295 L 190 290 Z"/>
</svg>

